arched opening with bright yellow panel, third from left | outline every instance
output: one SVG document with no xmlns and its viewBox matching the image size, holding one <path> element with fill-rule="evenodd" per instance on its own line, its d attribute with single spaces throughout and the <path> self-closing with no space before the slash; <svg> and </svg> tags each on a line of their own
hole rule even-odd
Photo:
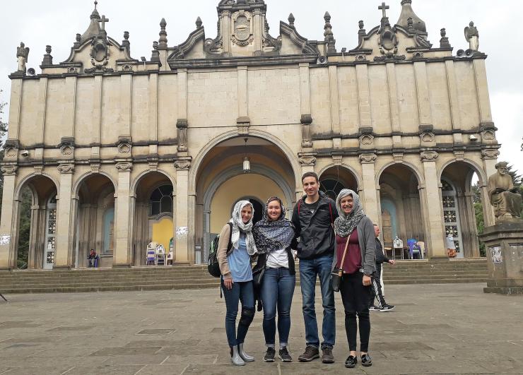
<svg viewBox="0 0 523 375">
<path fill-rule="evenodd" d="M 162 172 L 148 172 L 135 184 L 132 254 L 135 266 L 146 264 L 147 246 L 162 244 L 165 251 L 174 246 L 175 186 Z"/>
</svg>

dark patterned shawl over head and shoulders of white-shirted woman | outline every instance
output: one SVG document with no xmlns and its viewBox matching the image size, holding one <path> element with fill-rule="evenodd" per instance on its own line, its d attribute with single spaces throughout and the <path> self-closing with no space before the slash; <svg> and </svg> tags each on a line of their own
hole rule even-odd
<svg viewBox="0 0 523 375">
<path fill-rule="evenodd" d="M 269 203 L 278 201 L 281 206 L 281 215 L 278 220 L 269 219 L 267 208 Z M 254 225 L 254 241 L 259 254 L 266 254 L 274 250 L 287 249 L 294 239 L 295 227 L 285 218 L 285 206 L 278 197 L 269 198 L 265 203 L 264 218 Z"/>
</svg>

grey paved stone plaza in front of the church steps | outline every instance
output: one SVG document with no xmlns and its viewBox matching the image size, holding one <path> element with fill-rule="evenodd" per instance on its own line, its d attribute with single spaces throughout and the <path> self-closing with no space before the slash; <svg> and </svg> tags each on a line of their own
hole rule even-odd
<svg viewBox="0 0 523 375">
<path fill-rule="evenodd" d="M 522 374 L 523 298 L 483 294 L 483 287 L 387 286 L 396 310 L 372 313 L 374 365 L 355 369 L 343 367 L 339 295 L 335 364 L 297 361 L 305 346 L 297 290 L 295 362 L 262 362 L 258 313 L 246 343 L 257 361 L 245 367 L 229 362 L 217 289 L 8 295 L 8 304 L 0 300 L 0 374 Z"/>
</svg>

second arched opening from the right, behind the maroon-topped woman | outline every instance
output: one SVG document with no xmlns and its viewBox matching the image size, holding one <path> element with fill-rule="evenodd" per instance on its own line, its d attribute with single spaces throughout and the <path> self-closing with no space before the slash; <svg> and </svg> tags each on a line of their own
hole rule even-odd
<svg viewBox="0 0 523 375">
<path fill-rule="evenodd" d="M 413 169 L 404 164 L 389 165 L 379 181 L 384 246 L 392 248 L 395 237 L 403 241 L 404 247 L 409 239 L 427 242 L 418 191 L 420 182 Z"/>
</svg>

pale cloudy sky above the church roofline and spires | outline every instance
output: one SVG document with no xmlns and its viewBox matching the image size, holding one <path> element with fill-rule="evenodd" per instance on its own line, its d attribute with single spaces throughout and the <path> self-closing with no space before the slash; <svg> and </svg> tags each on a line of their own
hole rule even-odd
<svg viewBox="0 0 523 375">
<path fill-rule="evenodd" d="M 131 55 L 151 56 L 153 40 L 158 40 L 158 23 L 165 17 L 169 45 L 187 39 L 198 16 L 206 27 L 206 37 L 216 36 L 218 0 L 98 0 L 100 15 L 110 18 L 106 29 L 110 37 L 122 40 L 131 34 Z M 390 0 L 389 18 L 399 17 L 400 0 Z M 357 45 L 358 20 L 370 30 L 380 23 L 378 0 L 266 0 L 271 34 L 278 35 L 279 21 L 292 12 L 298 32 L 310 40 L 323 39 L 323 15 L 329 11 L 336 47 L 353 49 Z M 464 27 L 474 20 L 479 30 L 480 49 L 488 54 L 487 73 L 493 119 L 498 141 L 503 144 L 500 159 L 507 160 L 523 173 L 523 27 L 521 0 L 413 0 L 414 11 L 428 27 L 429 40 L 439 44 L 440 28 L 447 28 L 454 53 L 466 49 Z M 39 71 L 45 46 L 52 45 L 54 62 L 68 56 L 77 32 L 83 33 L 93 11 L 90 0 L 1 1 L 0 5 L 0 100 L 8 102 L 11 82 L 8 74 L 16 70 L 16 47 L 20 41 L 30 47 L 28 66 Z M 6 116 L 4 117 L 6 119 Z"/>
</svg>

